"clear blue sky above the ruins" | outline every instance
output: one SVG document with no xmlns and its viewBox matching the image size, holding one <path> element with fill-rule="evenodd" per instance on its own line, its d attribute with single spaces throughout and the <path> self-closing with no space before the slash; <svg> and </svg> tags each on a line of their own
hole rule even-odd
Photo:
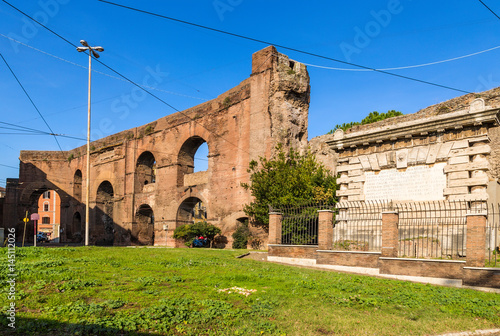
<svg viewBox="0 0 500 336">
<path fill-rule="evenodd" d="M 500 3 L 484 1 L 500 15 Z M 151 92 L 179 110 L 238 85 L 250 74 L 252 53 L 266 47 L 97 0 L 8 2 L 74 44 L 86 39 L 103 46 L 104 63 L 139 84 L 154 86 Z M 500 45 L 500 20 L 475 0 L 116 2 L 374 68 L 441 61 Z M 88 57 L 2 1 L 0 17 L 0 52 L 48 124 L 55 133 L 85 138 Z M 278 50 L 304 63 L 348 67 Z M 499 54 L 496 49 L 392 72 L 464 91 L 484 91 L 500 86 Z M 93 69 L 115 76 L 97 62 Z M 336 124 L 359 121 L 371 111 L 414 113 L 462 94 L 374 72 L 309 67 L 309 73 L 309 138 Z M 48 130 L 1 59 L 0 97 L 0 121 Z M 100 73 L 93 75 L 92 98 L 94 140 L 174 112 L 133 85 Z M 51 136 L 0 130 L 2 165 L 18 167 L 20 150 L 58 150 Z M 63 150 L 84 144 L 59 141 Z M 18 170 L 0 166 L 1 186 L 7 177 L 17 176 Z"/>
</svg>

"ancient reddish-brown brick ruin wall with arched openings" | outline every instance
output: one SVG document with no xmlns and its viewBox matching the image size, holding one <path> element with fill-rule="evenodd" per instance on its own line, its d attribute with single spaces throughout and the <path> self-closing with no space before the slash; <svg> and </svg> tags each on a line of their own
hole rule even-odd
<svg viewBox="0 0 500 336">
<path fill-rule="evenodd" d="M 268 47 L 253 55 L 250 78 L 216 99 L 93 142 L 91 243 L 150 244 L 151 227 L 139 220 L 141 209 L 149 207 L 155 245 L 175 246 L 172 234 L 184 223 L 183 209 L 200 200 L 230 247 L 237 220 L 246 217 L 243 206 L 251 200 L 241 187 L 249 182 L 249 162 L 269 157 L 278 142 L 305 148 L 308 103 L 305 66 Z M 208 170 L 192 173 L 203 142 L 209 148 Z M 144 181 L 139 162 L 145 157 L 156 161 L 155 181 Z M 54 189 L 62 200 L 61 227 L 68 232 L 61 239 L 68 241 L 81 231 L 72 226 L 76 213 L 85 223 L 86 147 L 22 151 L 20 160 L 19 196 L 16 210 L 5 216 L 7 225 L 19 225 L 27 208 L 36 211 L 33 199 Z"/>
</svg>

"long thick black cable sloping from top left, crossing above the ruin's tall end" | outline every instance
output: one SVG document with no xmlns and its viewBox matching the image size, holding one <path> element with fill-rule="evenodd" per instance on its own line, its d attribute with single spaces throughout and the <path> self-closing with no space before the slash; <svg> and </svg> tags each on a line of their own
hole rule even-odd
<svg viewBox="0 0 500 336">
<path fill-rule="evenodd" d="M 5 2 L 5 0 L 2 0 L 2 1 Z M 456 88 L 453 88 L 453 87 L 450 87 L 450 86 L 441 85 L 441 84 L 437 84 L 437 83 L 432 83 L 432 82 L 421 80 L 421 79 L 414 78 L 414 77 L 403 76 L 403 75 L 395 74 L 395 73 L 392 73 L 392 72 L 387 72 L 385 70 L 374 69 L 374 68 L 371 68 L 371 67 L 368 67 L 368 66 L 364 66 L 364 65 L 360 65 L 360 64 L 355 64 L 355 63 L 351 63 L 351 62 L 347 62 L 347 61 L 342 61 L 342 60 L 339 60 L 339 59 L 336 59 L 336 58 L 333 58 L 333 57 L 323 56 L 323 55 L 316 54 L 316 53 L 313 53 L 313 52 L 304 51 L 304 50 L 297 49 L 297 48 L 292 48 L 292 47 L 287 47 L 287 46 L 284 46 L 284 45 L 280 45 L 280 44 L 277 44 L 277 43 L 268 42 L 268 41 L 265 41 L 265 40 L 256 39 L 256 38 L 253 38 L 253 37 L 248 37 L 248 36 L 245 36 L 245 35 L 231 33 L 231 32 L 228 32 L 228 31 L 224 31 L 224 30 L 220 30 L 220 29 L 216 29 L 216 28 L 212 28 L 212 27 L 200 25 L 200 24 L 197 24 L 197 23 L 193 23 L 193 22 L 189 22 L 189 21 L 184 21 L 184 20 L 172 18 L 172 17 L 169 17 L 169 16 L 165 16 L 165 15 L 153 13 L 153 12 L 148 12 L 148 11 L 141 10 L 141 9 L 138 9 L 138 8 L 133 8 L 133 7 L 125 6 L 125 5 L 120 5 L 120 4 L 117 4 L 117 3 L 114 3 L 114 2 L 110 2 L 110 1 L 106 1 L 106 0 L 98 0 L 98 1 L 103 2 L 103 3 L 107 3 L 109 5 L 113 5 L 113 6 L 117 6 L 117 7 L 122 7 L 122 8 L 125 8 L 125 9 L 132 10 L 132 11 L 140 12 L 140 13 L 143 13 L 143 14 L 148 14 L 148 15 L 159 17 L 159 18 L 163 18 L 163 19 L 167 19 L 167 20 L 171 20 L 171 21 L 175 21 L 175 22 L 187 24 L 187 25 L 190 25 L 190 26 L 194 26 L 194 27 L 198 27 L 198 28 L 202 28 L 202 29 L 214 31 L 214 32 L 217 32 L 217 33 L 226 34 L 226 35 L 230 35 L 230 36 L 233 36 L 233 37 L 242 38 L 242 39 L 253 41 L 253 42 L 258 42 L 258 43 L 261 43 L 261 44 L 274 45 L 274 46 L 277 46 L 277 47 L 280 47 L 280 48 L 283 48 L 283 49 L 286 49 L 286 50 L 295 51 L 295 52 L 298 52 L 298 53 L 301 53 L 301 54 L 305 54 L 305 55 L 314 56 L 314 57 L 318 57 L 318 58 L 322 58 L 322 59 L 326 59 L 326 60 L 330 60 L 330 61 L 334 61 L 334 62 L 338 62 L 338 63 L 342 63 L 342 64 L 347 64 L 347 65 L 355 66 L 355 67 L 361 68 L 361 69 L 375 71 L 375 72 L 383 73 L 383 74 L 386 74 L 386 75 L 390 75 L 390 76 L 394 76 L 394 77 L 399 77 L 399 78 L 403 78 L 403 79 L 407 79 L 407 80 L 411 80 L 411 81 L 415 81 L 415 82 L 419 82 L 419 83 L 423 83 L 423 84 L 433 85 L 433 86 L 437 86 L 437 87 L 441 87 L 441 88 L 445 88 L 445 89 L 449 89 L 449 90 L 453 90 L 453 91 L 458 91 L 458 92 L 462 92 L 462 93 L 467 93 L 467 94 L 468 93 L 472 93 L 472 92 L 469 92 L 469 91 L 465 91 L 465 90 L 461 90 L 461 89 L 456 89 Z"/>
</svg>

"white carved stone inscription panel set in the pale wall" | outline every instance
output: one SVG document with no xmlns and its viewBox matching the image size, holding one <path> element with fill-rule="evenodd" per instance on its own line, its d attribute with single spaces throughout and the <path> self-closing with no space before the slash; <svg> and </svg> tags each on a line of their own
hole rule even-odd
<svg viewBox="0 0 500 336">
<path fill-rule="evenodd" d="M 420 165 L 398 169 L 384 169 L 380 172 L 366 172 L 366 200 L 395 201 L 438 201 L 444 200 L 446 188 L 445 162 L 432 166 Z"/>
</svg>

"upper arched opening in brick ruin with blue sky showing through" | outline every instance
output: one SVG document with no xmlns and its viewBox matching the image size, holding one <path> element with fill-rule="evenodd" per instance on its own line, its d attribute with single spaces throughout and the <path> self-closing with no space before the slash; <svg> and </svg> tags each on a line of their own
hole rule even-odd
<svg viewBox="0 0 500 336">
<path fill-rule="evenodd" d="M 205 144 L 204 147 L 201 148 L 200 153 L 198 154 L 198 150 L 200 147 Z M 203 177 L 195 179 L 195 182 L 192 181 L 185 181 L 185 176 L 189 174 L 193 174 L 195 172 L 200 173 L 203 171 L 202 169 L 205 168 L 204 170 L 208 169 L 208 145 L 206 141 L 199 137 L 199 136 L 193 136 L 186 140 L 184 144 L 182 145 L 179 155 L 177 158 L 177 163 L 178 163 L 178 175 L 177 175 L 177 185 L 178 186 L 184 186 L 184 185 L 193 185 L 193 184 L 199 184 L 199 183 L 206 183 Z M 198 165 L 200 166 L 199 169 L 195 170 L 195 155 L 197 155 L 197 162 L 196 163 L 196 168 L 198 168 Z M 206 162 L 205 165 L 201 164 L 201 162 Z"/>
</svg>

